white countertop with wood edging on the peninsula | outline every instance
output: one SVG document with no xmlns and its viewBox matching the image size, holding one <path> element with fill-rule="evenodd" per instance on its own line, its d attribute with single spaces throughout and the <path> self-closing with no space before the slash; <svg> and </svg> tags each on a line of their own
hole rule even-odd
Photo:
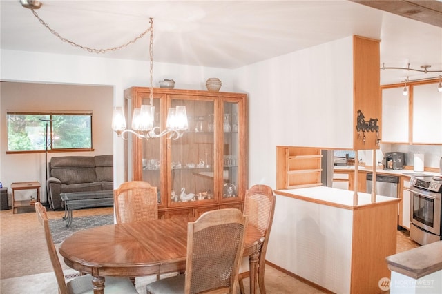
<svg viewBox="0 0 442 294">
<path fill-rule="evenodd" d="M 354 210 L 357 207 L 387 204 L 387 202 L 399 202 L 400 199 L 376 195 L 376 202 L 372 202 L 372 195 L 369 193 L 358 192 L 358 204 L 353 204 L 354 191 L 330 188 L 326 186 L 317 186 L 310 188 L 297 188 L 288 190 L 275 190 L 277 195 L 283 195 L 301 199 L 309 202 L 317 202 L 329 206 L 336 206 Z"/>
</svg>

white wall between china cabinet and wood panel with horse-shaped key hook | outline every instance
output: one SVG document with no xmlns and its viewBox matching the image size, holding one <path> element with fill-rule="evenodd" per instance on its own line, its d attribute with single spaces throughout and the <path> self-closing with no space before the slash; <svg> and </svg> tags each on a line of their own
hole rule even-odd
<svg viewBox="0 0 442 294">
<path fill-rule="evenodd" d="M 249 94 L 249 185 L 276 188 L 276 146 L 352 148 L 352 37 L 235 71 Z"/>
</svg>

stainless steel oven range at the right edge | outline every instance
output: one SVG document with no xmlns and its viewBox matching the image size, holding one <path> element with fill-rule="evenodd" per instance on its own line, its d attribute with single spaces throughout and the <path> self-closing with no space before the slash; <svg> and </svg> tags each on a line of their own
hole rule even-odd
<svg viewBox="0 0 442 294">
<path fill-rule="evenodd" d="M 421 245 L 441 240 L 442 175 L 410 179 L 410 238 Z"/>
</svg>

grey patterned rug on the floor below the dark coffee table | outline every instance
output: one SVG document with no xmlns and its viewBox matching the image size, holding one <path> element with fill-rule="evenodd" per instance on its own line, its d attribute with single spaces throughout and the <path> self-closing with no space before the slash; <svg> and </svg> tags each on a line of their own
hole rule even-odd
<svg viewBox="0 0 442 294">
<path fill-rule="evenodd" d="M 72 224 L 66 228 L 66 220 L 49 219 L 50 233 L 54 243 L 61 243 L 64 239 L 73 233 L 84 230 L 86 228 L 93 228 L 95 226 L 104 226 L 106 224 L 113 224 L 113 215 L 89 215 L 86 217 L 74 217 Z"/>
</svg>

